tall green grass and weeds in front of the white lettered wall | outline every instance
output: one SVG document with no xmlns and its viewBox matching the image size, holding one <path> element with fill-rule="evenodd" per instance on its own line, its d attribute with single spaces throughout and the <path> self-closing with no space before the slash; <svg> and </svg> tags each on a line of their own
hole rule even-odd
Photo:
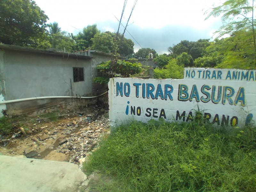
<svg viewBox="0 0 256 192">
<path fill-rule="evenodd" d="M 116 176 L 124 191 L 255 191 L 255 128 L 120 125 L 84 164 Z M 115 191 L 115 185 L 108 191 Z"/>
</svg>

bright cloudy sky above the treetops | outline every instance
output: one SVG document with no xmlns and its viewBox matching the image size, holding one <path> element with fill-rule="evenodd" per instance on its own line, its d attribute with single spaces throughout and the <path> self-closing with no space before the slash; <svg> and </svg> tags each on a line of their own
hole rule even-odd
<svg viewBox="0 0 256 192">
<path fill-rule="evenodd" d="M 140 48 L 168 53 L 168 47 L 182 40 L 212 39 L 221 26 L 220 18 L 205 20 L 204 12 L 223 0 L 127 0 L 122 24 L 128 26 L 125 38 L 134 42 L 134 52 Z M 35 0 L 49 17 L 47 23 L 58 22 L 61 30 L 76 35 L 88 25 L 97 24 L 101 31 L 116 32 L 124 0 Z M 116 19 L 117 18 L 117 19 Z M 123 33 L 121 26 L 119 32 Z"/>
</svg>

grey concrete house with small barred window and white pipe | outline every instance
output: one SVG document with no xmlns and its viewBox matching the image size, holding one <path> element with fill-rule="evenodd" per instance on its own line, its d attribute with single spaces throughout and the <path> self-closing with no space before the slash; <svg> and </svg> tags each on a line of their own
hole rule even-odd
<svg viewBox="0 0 256 192">
<path fill-rule="evenodd" d="M 68 53 L 0 44 L 0 116 L 100 95 L 106 86 L 92 79 L 96 65 L 108 60 L 111 54 L 98 51 Z"/>
</svg>

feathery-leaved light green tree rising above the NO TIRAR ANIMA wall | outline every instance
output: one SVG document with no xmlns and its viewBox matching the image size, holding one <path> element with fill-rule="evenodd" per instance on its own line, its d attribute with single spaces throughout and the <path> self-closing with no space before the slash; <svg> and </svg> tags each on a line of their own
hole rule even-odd
<svg viewBox="0 0 256 192">
<path fill-rule="evenodd" d="M 208 14 L 206 19 L 221 15 L 223 25 L 216 33 L 219 37 L 223 35 L 230 36 L 227 40 L 229 48 L 224 55 L 226 60 L 237 54 L 239 55 L 236 59 L 232 59 L 232 65 L 234 66 L 239 66 L 238 62 L 244 60 L 243 63 L 246 63 L 247 67 L 256 67 L 254 3 L 255 0 L 228 0 L 222 5 L 212 8 L 210 12 L 206 12 Z M 240 65 L 240 68 L 244 68 L 242 65 Z"/>
</svg>

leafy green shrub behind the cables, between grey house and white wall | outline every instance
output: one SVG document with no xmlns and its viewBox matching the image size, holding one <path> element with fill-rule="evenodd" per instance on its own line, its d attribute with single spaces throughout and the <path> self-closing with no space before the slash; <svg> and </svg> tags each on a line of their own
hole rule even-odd
<svg viewBox="0 0 256 192">
<path fill-rule="evenodd" d="M 98 76 L 93 79 L 93 82 L 103 84 L 108 83 L 110 74 L 110 62 L 102 62 L 97 65 L 97 69 L 103 73 L 103 76 Z M 129 77 L 130 75 L 141 72 L 141 64 L 136 59 L 132 58 L 129 61 L 117 60 L 115 70 L 115 77 Z"/>
</svg>

